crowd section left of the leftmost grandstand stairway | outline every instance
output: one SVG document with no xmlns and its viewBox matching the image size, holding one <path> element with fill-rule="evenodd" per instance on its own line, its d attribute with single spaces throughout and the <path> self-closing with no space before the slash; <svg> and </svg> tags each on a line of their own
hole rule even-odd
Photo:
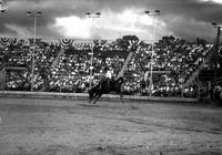
<svg viewBox="0 0 222 155">
<path fill-rule="evenodd" d="M 28 40 L 18 40 L 16 43 L 1 46 L 2 65 L 9 68 L 6 90 L 29 90 L 32 72 L 32 56 L 34 54 L 34 90 L 40 90 L 43 84 L 41 70 L 49 69 L 61 46 L 58 43 L 40 41 L 33 43 Z M 34 52 L 33 52 L 34 51 Z M 1 65 L 1 68 L 2 68 Z"/>
</svg>

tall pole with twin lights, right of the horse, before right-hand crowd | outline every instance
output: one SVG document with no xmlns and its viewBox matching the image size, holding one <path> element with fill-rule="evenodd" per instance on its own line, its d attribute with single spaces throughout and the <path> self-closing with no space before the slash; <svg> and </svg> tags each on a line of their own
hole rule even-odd
<svg viewBox="0 0 222 155">
<path fill-rule="evenodd" d="M 152 27 L 152 52 L 151 52 L 151 65 L 150 65 L 150 96 L 152 95 L 152 85 L 153 85 L 153 52 L 154 52 L 154 17 L 160 16 L 160 10 L 155 10 L 154 12 L 145 11 L 145 14 L 152 17 L 153 27 Z"/>
</svg>

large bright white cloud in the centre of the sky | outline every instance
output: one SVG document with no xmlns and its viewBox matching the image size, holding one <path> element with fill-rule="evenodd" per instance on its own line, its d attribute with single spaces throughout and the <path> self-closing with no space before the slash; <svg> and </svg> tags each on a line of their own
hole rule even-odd
<svg viewBox="0 0 222 155">
<path fill-rule="evenodd" d="M 68 38 L 92 39 L 100 37 L 114 40 L 122 34 L 137 34 L 140 38 L 148 39 L 145 35 L 152 33 L 152 18 L 144 13 L 141 14 L 140 9 L 125 9 L 122 12 L 104 10 L 102 16 L 95 18 L 94 21 L 92 18 L 81 19 L 77 16 L 57 18 L 57 22 L 52 27 L 60 31 L 61 35 Z M 159 24 L 160 29 L 162 29 L 162 25 L 165 24 Z"/>
</svg>

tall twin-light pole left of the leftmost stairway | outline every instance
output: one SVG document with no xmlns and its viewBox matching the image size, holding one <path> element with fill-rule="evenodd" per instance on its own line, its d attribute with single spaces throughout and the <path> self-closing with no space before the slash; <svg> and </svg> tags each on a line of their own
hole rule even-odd
<svg viewBox="0 0 222 155">
<path fill-rule="evenodd" d="M 36 13 L 27 12 L 28 17 L 32 17 L 34 19 L 34 37 L 33 37 L 33 51 L 32 51 L 32 65 L 31 65 L 31 92 L 33 91 L 34 85 L 34 53 L 36 53 L 36 38 L 37 38 L 37 18 L 41 17 L 41 12 L 38 11 Z"/>
</svg>

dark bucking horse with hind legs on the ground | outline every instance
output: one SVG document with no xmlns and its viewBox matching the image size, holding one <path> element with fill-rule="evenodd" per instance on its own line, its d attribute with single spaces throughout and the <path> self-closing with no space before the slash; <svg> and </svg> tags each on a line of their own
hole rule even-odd
<svg viewBox="0 0 222 155">
<path fill-rule="evenodd" d="M 89 91 L 89 103 L 95 104 L 98 99 L 100 99 L 103 94 L 115 92 L 117 94 L 120 94 L 120 97 L 122 100 L 122 84 L 123 84 L 123 78 L 119 78 L 118 80 L 112 80 L 109 78 L 102 79 L 95 86 L 93 86 Z"/>
</svg>

